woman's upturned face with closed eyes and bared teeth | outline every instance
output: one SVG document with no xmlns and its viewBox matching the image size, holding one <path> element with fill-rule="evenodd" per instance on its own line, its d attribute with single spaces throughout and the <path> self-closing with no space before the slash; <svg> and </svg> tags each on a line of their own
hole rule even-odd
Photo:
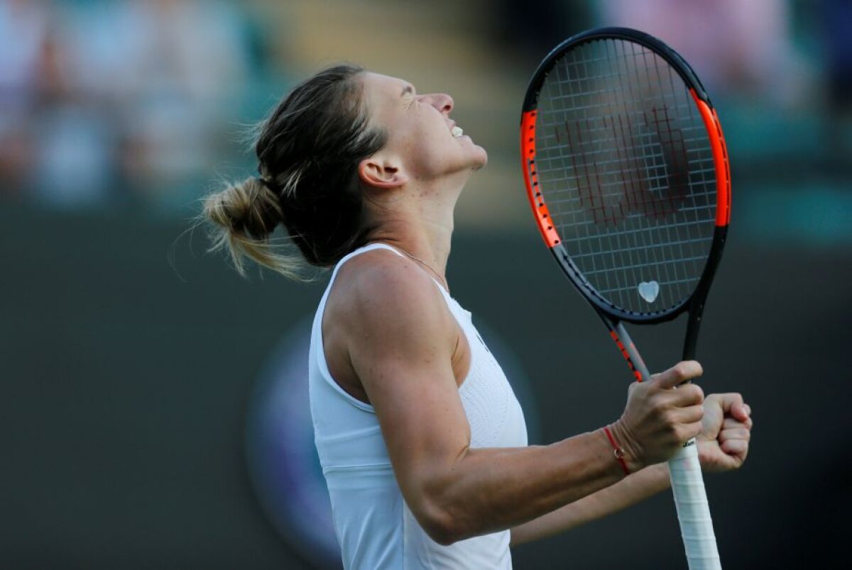
<svg viewBox="0 0 852 570">
<path fill-rule="evenodd" d="M 365 73 L 363 81 L 371 124 L 388 134 L 383 151 L 398 157 L 409 177 L 435 180 L 485 166 L 485 149 L 450 118 L 452 97 L 419 95 L 411 83 L 377 73 Z"/>
</svg>

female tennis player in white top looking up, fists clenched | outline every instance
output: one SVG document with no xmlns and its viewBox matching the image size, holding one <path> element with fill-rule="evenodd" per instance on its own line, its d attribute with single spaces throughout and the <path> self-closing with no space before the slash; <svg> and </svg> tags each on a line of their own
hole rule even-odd
<svg viewBox="0 0 852 570">
<path fill-rule="evenodd" d="M 509 546 L 646 499 L 699 437 L 746 459 L 750 408 L 679 362 L 630 385 L 602 429 L 527 446 L 509 383 L 450 295 L 453 209 L 486 151 L 446 94 L 357 66 L 320 71 L 262 123 L 259 176 L 207 197 L 216 247 L 285 276 L 333 268 L 311 333 L 315 440 L 347 568 L 509 568 Z M 300 256 L 271 239 L 284 225 Z"/>
</svg>

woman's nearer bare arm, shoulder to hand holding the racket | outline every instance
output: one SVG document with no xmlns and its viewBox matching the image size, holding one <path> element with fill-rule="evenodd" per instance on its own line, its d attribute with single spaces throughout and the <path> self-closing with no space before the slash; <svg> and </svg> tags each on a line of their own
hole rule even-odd
<svg viewBox="0 0 852 570">
<path fill-rule="evenodd" d="M 624 478 L 601 431 L 543 447 L 471 449 L 451 366 L 458 326 L 434 283 L 394 261 L 357 277 L 341 322 L 400 490 L 433 539 L 517 527 Z M 667 459 L 699 431 L 700 389 L 668 388 L 700 368 L 673 370 L 631 389 L 632 412 L 613 425 L 634 470 Z"/>
</svg>

